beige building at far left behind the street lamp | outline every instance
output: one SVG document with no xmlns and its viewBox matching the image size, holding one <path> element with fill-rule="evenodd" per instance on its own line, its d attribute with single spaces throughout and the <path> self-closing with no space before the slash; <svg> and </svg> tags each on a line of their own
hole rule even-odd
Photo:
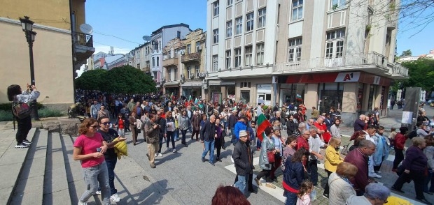
<svg viewBox="0 0 434 205">
<path fill-rule="evenodd" d="M 43 5 L 43 6 L 41 6 Z M 66 110 L 74 100 L 73 78 L 93 54 L 92 35 L 85 23 L 85 1 L 4 1 L 0 6 L 0 103 L 6 88 L 30 83 L 29 46 L 19 17 L 34 21 L 34 75 L 38 102 Z M 86 29 L 85 29 L 86 28 Z M 84 32 L 82 31 L 85 30 Z M 60 89 L 61 88 L 61 89 Z"/>
</svg>

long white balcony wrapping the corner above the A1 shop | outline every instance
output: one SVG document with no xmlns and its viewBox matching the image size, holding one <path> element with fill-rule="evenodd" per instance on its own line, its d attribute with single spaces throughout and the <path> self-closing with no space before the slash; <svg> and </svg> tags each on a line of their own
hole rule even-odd
<svg viewBox="0 0 434 205">
<path fill-rule="evenodd" d="M 311 72 L 345 72 L 362 70 L 366 73 L 388 76 L 386 56 L 376 52 L 348 54 L 339 58 L 315 58 L 292 63 L 276 63 L 273 74 L 298 74 Z"/>
</svg>

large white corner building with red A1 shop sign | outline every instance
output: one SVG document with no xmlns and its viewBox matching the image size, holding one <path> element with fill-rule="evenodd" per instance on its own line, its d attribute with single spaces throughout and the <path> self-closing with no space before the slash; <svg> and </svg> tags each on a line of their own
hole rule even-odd
<svg viewBox="0 0 434 205">
<path fill-rule="evenodd" d="M 251 104 L 335 107 L 346 123 L 374 107 L 384 115 L 393 79 L 408 75 L 393 61 L 398 15 L 388 9 L 400 2 L 349 2 L 209 0 L 209 83 L 233 82 L 223 96 Z"/>
</svg>

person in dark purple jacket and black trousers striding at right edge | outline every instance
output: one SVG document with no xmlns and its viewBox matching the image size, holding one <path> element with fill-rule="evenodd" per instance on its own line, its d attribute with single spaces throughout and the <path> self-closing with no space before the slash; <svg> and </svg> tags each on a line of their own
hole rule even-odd
<svg viewBox="0 0 434 205">
<path fill-rule="evenodd" d="M 404 173 L 392 185 L 391 189 L 403 193 L 401 190 L 402 185 L 406 181 L 414 181 L 414 190 L 416 192 L 416 199 L 419 201 L 430 204 L 423 195 L 423 186 L 425 183 L 425 169 L 428 165 L 428 158 L 423 153 L 426 147 L 426 142 L 423 137 L 414 137 L 412 139 L 413 146 L 410 146 L 405 153 L 405 160 L 402 162 Z"/>
</svg>

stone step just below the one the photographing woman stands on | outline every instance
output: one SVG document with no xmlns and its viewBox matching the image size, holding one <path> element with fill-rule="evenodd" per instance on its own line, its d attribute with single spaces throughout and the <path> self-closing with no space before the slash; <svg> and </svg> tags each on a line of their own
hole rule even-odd
<svg viewBox="0 0 434 205">
<path fill-rule="evenodd" d="M 36 132 L 10 204 L 42 204 L 48 131 Z"/>
</svg>

